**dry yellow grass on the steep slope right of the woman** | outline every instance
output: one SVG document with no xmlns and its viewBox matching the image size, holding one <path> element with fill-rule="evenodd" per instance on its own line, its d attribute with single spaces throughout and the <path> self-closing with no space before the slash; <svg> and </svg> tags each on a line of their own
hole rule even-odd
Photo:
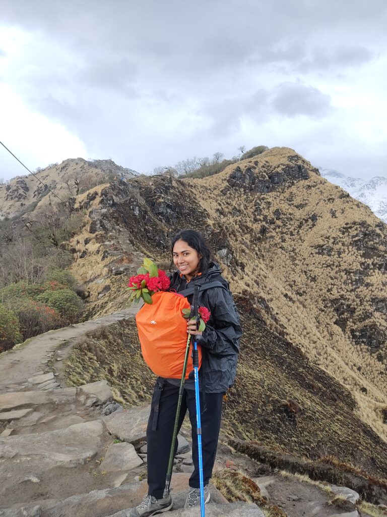
<svg viewBox="0 0 387 517">
<path fill-rule="evenodd" d="M 363 285 L 356 290 L 351 285 L 357 271 L 367 262 L 361 251 L 353 247 L 359 221 L 373 230 L 374 242 L 368 245 L 373 244 L 379 256 L 384 251 L 386 226 L 384 230 L 376 227 L 380 220 L 367 206 L 340 197 L 345 195 L 344 191 L 318 176 L 310 163 L 292 149 L 273 148 L 238 165 L 241 170 L 253 166 L 254 175 L 264 177 L 268 164 L 271 172 L 281 171 L 289 164 L 289 156 L 304 165 L 310 177 L 287 186 L 283 192 L 257 194 L 230 189 L 228 178 L 235 165 L 215 176 L 187 182 L 208 211 L 211 223 L 220 219 L 227 227 L 232 252 L 245 264 L 244 271 L 224 268 L 233 291 L 247 288 L 253 297 L 262 296 L 285 337 L 351 390 L 358 403 L 356 413 L 386 439 L 386 426 L 381 420 L 381 410 L 387 402 L 386 376 L 382 373 L 385 366 L 376 354 L 370 353 L 369 347 L 353 343 L 349 329 L 343 332 L 333 323 L 337 315 L 327 303 L 332 299 L 347 303 L 353 322 L 348 327 L 356 328 L 356 322 L 368 315 L 367 322 L 386 329 L 385 315 L 376 312 L 372 304 L 375 298 L 385 299 L 385 273 L 371 268 L 364 273 Z M 256 216 L 256 201 L 262 207 L 260 216 Z M 221 217 L 219 207 L 223 211 Z M 276 209 L 281 211 L 278 220 L 273 217 Z M 309 223 L 312 214 L 317 215 L 314 226 Z M 265 216 L 274 220 L 267 223 Z M 300 222 L 304 226 L 298 229 Z M 257 230 L 263 224 L 269 232 L 266 238 L 259 239 Z M 316 246 L 331 246 L 331 256 L 318 254 Z"/>
</svg>

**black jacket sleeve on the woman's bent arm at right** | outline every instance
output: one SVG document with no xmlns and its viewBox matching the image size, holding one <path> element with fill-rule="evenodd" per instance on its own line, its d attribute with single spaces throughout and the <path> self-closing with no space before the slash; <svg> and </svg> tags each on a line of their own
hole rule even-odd
<svg viewBox="0 0 387 517">
<path fill-rule="evenodd" d="M 203 346 L 212 354 L 237 354 L 242 329 L 232 294 L 219 287 L 210 288 L 205 294 L 203 302 L 211 317 L 203 331 Z"/>
</svg>

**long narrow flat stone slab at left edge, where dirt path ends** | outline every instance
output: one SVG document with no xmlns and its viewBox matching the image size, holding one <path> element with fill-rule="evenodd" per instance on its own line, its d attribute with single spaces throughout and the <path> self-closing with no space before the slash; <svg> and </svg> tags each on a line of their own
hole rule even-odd
<svg viewBox="0 0 387 517">
<path fill-rule="evenodd" d="M 15 408 L 35 407 L 41 404 L 75 401 L 76 388 L 63 388 L 55 391 L 12 391 L 0 394 L 0 411 Z"/>
</svg>

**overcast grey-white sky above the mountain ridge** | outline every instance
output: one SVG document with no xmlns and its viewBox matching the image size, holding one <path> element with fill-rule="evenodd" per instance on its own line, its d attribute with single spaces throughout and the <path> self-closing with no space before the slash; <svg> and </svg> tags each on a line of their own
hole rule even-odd
<svg viewBox="0 0 387 517">
<path fill-rule="evenodd" d="M 0 140 L 30 169 L 267 145 L 387 176 L 386 27 L 386 0 L 0 0 Z"/>
</svg>

